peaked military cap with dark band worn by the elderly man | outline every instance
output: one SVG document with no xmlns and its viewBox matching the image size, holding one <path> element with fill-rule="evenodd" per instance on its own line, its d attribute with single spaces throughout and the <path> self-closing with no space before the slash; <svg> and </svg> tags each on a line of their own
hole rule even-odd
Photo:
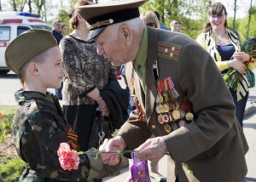
<svg viewBox="0 0 256 182">
<path fill-rule="evenodd" d="M 109 25 L 139 17 L 138 7 L 143 3 L 146 0 L 121 0 L 77 7 L 79 14 L 90 24 L 87 40 L 92 40 Z"/>
</svg>

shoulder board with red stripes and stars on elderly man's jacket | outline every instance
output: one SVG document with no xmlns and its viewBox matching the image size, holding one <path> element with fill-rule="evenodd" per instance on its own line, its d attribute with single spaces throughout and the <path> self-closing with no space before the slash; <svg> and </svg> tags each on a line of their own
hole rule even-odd
<svg viewBox="0 0 256 182">
<path fill-rule="evenodd" d="M 177 45 L 174 43 L 158 42 L 158 56 L 168 60 L 178 60 L 179 53 L 183 48 L 182 45 Z"/>
</svg>

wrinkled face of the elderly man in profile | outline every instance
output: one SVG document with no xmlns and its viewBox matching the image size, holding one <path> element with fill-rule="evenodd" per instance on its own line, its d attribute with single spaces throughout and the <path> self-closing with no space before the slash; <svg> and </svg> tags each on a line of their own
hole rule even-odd
<svg viewBox="0 0 256 182">
<path fill-rule="evenodd" d="M 97 43 L 97 53 L 103 54 L 113 65 L 123 65 L 132 60 L 129 56 L 129 47 L 126 44 L 125 35 L 120 27 L 118 30 L 113 30 L 108 26 L 95 38 L 95 41 Z"/>
</svg>

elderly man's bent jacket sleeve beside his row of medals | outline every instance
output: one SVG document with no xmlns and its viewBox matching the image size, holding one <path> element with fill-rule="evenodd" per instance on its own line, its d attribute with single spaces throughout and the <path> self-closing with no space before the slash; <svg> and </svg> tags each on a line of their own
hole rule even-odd
<svg viewBox="0 0 256 182">
<path fill-rule="evenodd" d="M 174 161 L 186 162 L 210 149 L 230 131 L 236 109 L 214 60 L 199 45 L 183 47 L 177 60 L 177 80 L 193 105 L 196 119 L 163 139 Z"/>
</svg>

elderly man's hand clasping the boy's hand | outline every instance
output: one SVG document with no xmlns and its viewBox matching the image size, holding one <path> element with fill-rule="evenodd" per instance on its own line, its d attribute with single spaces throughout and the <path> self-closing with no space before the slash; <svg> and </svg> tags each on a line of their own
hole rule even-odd
<svg viewBox="0 0 256 182">
<path fill-rule="evenodd" d="M 121 136 L 116 136 L 113 139 L 105 139 L 100 146 L 100 151 L 124 151 L 125 146 L 125 140 Z M 119 154 L 102 153 L 102 162 L 115 166 L 119 163 Z"/>
</svg>

